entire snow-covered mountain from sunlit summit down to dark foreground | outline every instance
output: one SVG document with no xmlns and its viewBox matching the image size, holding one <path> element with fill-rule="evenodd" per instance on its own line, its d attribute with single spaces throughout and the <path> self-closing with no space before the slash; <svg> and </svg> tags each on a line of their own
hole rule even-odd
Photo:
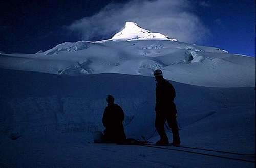
<svg viewBox="0 0 256 168">
<path fill-rule="evenodd" d="M 155 69 L 176 89 L 182 145 L 250 155 L 88 143 L 104 129 L 108 94 L 128 138 L 159 139 Z M 0 77 L 0 167 L 254 167 L 255 58 L 128 22 L 109 40 L 2 53 Z"/>
</svg>

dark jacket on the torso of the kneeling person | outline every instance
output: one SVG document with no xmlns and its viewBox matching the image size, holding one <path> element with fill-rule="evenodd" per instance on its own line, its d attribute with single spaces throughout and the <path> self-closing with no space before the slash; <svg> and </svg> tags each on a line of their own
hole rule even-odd
<svg viewBox="0 0 256 168">
<path fill-rule="evenodd" d="M 122 131 L 123 130 L 124 113 L 120 106 L 117 104 L 108 105 L 105 108 L 102 122 L 104 127 L 109 131 Z"/>
</svg>

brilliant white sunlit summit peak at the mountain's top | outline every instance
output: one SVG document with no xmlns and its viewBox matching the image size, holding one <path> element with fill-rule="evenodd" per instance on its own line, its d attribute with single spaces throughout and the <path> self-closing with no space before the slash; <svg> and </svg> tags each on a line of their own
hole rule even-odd
<svg viewBox="0 0 256 168">
<path fill-rule="evenodd" d="M 170 40 L 178 41 L 177 39 L 170 39 L 161 33 L 152 33 L 149 30 L 143 29 L 134 22 L 125 22 L 125 27 L 118 33 L 116 33 L 112 40 Z"/>
</svg>

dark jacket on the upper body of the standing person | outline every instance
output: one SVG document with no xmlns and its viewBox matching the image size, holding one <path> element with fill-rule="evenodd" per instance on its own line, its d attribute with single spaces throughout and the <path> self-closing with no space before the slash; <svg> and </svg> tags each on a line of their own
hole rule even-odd
<svg viewBox="0 0 256 168">
<path fill-rule="evenodd" d="M 156 84 L 156 113 L 173 112 L 176 113 L 174 98 L 175 89 L 172 84 L 163 79 Z"/>
</svg>

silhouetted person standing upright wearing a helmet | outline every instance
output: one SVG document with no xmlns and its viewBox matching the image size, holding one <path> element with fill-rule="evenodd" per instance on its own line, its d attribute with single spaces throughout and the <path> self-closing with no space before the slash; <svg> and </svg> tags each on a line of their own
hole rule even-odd
<svg viewBox="0 0 256 168">
<path fill-rule="evenodd" d="M 164 124 L 167 121 L 169 127 L 173 132 L 172 145 L 180 145 L 179 128 L 177 124 L 177 110 L 174 103 L 176 96 L 175 89 L 172 84 L 163 78 L 161 70 L 157 69 L 154 72 L 156 83 L 156 119 L 155 127 L 160 135 L 160 140 L 156 145 L 167 145 L 169 143 L 168 137 L 164 131 Z"/>
</svg>

